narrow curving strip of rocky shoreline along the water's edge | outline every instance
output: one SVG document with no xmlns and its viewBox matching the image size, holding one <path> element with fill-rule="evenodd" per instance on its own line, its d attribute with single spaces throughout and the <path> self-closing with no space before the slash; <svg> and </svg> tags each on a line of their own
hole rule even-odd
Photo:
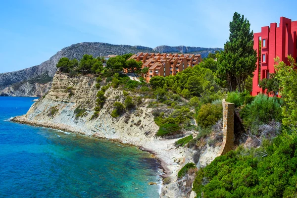
<svg viewBox="0 0 297 198">
<path fill-rule="evenodd" d="M 130 147 L 137 147 L 138 149 L 148 152 L 152 155 L 152 158 L 156 159 L 156 161 L 160 164 L 160 166 L 158 167 L 159 169 L 162 170 L 162 172 L 160 173 L 160 178 L 165 179 L 166 177 L 169 177 L 171 174 L 171 170 L 167 167 L 168 164 L 161 159 L 161 156 L 159 156 L 157 154 L 157 152 L 155 150 L 152 149 L 148 149 L 145 148 L 141 145 L 136 145 L 136 144 L 132 144 L 132 143 L 125 143 L 123 142 L 121 139 L 119 138 L 106 138 L 103 136 L 99 136 L 98 134 L 93 134 L 92 136 L 87 135 L 85 132 L 82 131 L 75 131 L 75 130 L 71 130 L 70 128 L 64 128 L 64 127 L 57 127 L 54 124 L 49 124 L 49 123 L 37 123 L 35 121 L 29 121 L 29 120 L 24 120 L 24 118 L 22 116 L 15 116 L 13 118 L 10 118 L 9 120 L 10 122 L 15 122 L 15 123 L 19 123 L 19 124 L 26 124 L 26 125 L 30 125 L 30 126 L 37 126 L 37 127 L 44 127 L 44 128 L 48 128 L 48 129 L 54 129 L 54 130 L 60 130 L 63 132 L 69 132 L 69 133 L 75 133 L 75 134 L 79 134 L 79 135 L 83 135 L 85 137 L 89 137 L 89 138 L 96 138 L 96 139 L 100 139 L 100 140 L 108 140 L 114 143 L 120 143 L 126 146 L 130 146 Z M 162 183 L 160 184 L 161 188 L 164 186 L 163 184 L 163 180 Z M 160 192 L 159 192 L 160 194 Z"/>
</svg>

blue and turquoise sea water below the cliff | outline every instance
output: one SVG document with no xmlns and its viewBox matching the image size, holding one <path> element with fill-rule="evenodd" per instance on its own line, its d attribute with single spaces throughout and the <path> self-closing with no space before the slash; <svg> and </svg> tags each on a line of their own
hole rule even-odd
<svg viewBox="0 0 297 198">
<path fill-rule="evenodd" d="M 73 133 L 7 121 L 34 98 L 0 97 L 0 197 L 157 198 L 149 153 Z"/>
</svg>

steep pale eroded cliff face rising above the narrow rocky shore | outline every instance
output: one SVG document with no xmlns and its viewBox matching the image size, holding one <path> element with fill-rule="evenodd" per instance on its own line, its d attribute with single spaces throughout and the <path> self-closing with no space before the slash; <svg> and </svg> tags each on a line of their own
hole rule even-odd
<svg viewBox="0 0 297 198">
<path fill-rule="evenodd" d="M 105 92 L 106 101 L 98 118 L 91 119 L 95 112 L 98 92 L 95 85 L 93 75 L 72 78 L 65 74 L 55 75 L 52 89 L 34 103 L 23 118 L 35 122 L 36 125 L 47 123 L 57 125 L 53 128 L 112 139 L 126 139 L 128 136 L 150 138 L 154 135 L 152 132 L 158 130 L 150 109 L 146 109 L 145 106 L 126 112 L 118 118 L 112 118 L 110 112 L 113 103 L 124 103 L 123 92 L 113 88 Z M 70 90 L 72 94 L 69 94 Z M 84 115 L 77 117 L 76 109 L 85 109 Z"/>
</svg>

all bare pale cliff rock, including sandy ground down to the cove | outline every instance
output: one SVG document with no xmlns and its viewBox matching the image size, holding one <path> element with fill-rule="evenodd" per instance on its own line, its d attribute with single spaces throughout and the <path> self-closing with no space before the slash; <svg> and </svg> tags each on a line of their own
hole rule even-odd
<svg viewBox="0 0 297 198">
<path fill-rule="evenodd" d="M 105 91 L 106 100 L 98 117 L 92 119 L 98 92 L 95 79 L 94 75 L 70 78 L 67 74 L 56 74 L 49 92 L 38 99 L 25 115 L 15 117 L 13 120 L 94 138 L 107 138 L 148 150 L 160 160 L 164 170 L 163 177 L 170 178 L 170 182 L 164 184 L 161 195 L 169 198 L 188 197 L 192 189 L 192 183 L 189 183 L 188 179 L 193 182 L 193 174 L 178 179 L 177 173 L 186 163 L 193 162 L 193 150 L 187 147 L 176 148 L 174 143 L 177 139 L 155 136 L 159 127 L 152 115 L 154 108 L 148 107 L 148 104 L 155 99 L 144 99 L 142 96 L 143 102 L 136 108 L 113 118 L 110 116 L 113 103 L 115 101 L 124 103 L 125 97 L 121 89 L 110 87 Z M 105 84 L 104 80 L 100 84 L 102 87 Z M 137 92 L 129 94 L 133 98 L 141 96 Z M 167 105 L 164 107 L 164 110 L 166 109 L 168 110 Z M 189 135 L 189 132 L 187 133 Z M 200 154 L 198 163 L 209 163 L 216 157 L 218 151 L 219 148 L 207 148 Z"/>
</svg>

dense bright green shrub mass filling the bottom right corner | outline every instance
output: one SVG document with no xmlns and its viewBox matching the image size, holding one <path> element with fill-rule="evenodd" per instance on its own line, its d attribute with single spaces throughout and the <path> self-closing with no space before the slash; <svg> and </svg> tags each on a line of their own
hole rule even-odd
<svg viewBox="0 0 297 198">
<path fill-rule="evenodd" d="M 278 137 L 263 148 L 238 148 L 199 169 L 193 190 L 204 198 L 294 197 L 297 138 Z M 208 181 L 206 184 L 203 182 Z"/>
</svg>

